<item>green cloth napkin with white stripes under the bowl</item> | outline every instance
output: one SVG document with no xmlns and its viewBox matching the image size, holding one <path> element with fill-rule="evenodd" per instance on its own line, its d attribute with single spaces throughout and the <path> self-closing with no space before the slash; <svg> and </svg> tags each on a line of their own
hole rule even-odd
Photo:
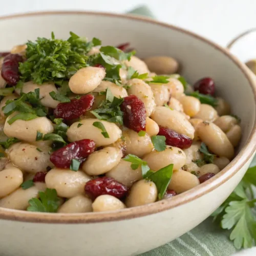
<svg viewBox="0 0 256 256">
<path fill-rule="evenodd" d="M 154 18 L 146 6 L 133 9 L 128 14 Z M 256 165 L 256 157 L 251 166 Z M 229 232 L 221 229 L 209 217 L 180 238 L 139 256 L 230 256 L 236 248 L 229 240 Z"/>
</svg>

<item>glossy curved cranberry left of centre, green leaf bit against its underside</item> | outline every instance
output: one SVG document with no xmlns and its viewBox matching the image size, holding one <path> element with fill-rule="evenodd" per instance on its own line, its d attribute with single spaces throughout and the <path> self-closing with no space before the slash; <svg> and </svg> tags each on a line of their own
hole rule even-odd
<svg viewBox="0 0 256 256">
<path fill-rule="evenodd" d="M 78 140 L 54 151 L 50 160 L 58 168 L 69 168 L 72 159 L 82 163 L 94 150 L 95 142 L 93 140 Z"/>
</svg>

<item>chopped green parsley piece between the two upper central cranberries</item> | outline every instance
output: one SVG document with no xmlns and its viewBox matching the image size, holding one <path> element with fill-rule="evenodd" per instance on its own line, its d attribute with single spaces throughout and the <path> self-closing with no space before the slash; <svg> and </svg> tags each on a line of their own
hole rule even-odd
<svg viewBox="0 0 256 256">
<path fill-rule="evenodd" d="M 120 105 L 123 98 L 113 96 L 110 89 L 106 90 L 106 99 L 103 100 L 98 109 L 92 110 L 91 113 L 99 120 L 123 124 L 123 112 L 120 110 Z"/>
</svg>

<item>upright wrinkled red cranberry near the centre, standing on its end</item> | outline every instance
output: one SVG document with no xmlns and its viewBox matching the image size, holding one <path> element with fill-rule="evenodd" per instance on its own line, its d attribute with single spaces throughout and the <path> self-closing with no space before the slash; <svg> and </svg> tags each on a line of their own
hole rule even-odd
<svg viewBox="0 0 256 256">
<path fill-rule="evenodd" d="M 123 98 L 121 104 L 124 125 L 135 132 L 145 131 L 146 109 L 144 103 L 135 95 Z"/>
</svg>

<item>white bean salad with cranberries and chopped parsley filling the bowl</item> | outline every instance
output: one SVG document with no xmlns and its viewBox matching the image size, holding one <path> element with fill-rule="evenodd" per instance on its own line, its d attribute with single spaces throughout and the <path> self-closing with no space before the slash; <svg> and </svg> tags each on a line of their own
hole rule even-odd
<svg viewBox="0 0 256 256">
<path fill-rule="evenodd" d="M 112 211 L 169 199 L 234 157 L 240 119 L 215 81 L 70 32 L 0 53 L 0 207 Z M 207 75 L 207 74 L 206 74 Z"/>
</svg>

